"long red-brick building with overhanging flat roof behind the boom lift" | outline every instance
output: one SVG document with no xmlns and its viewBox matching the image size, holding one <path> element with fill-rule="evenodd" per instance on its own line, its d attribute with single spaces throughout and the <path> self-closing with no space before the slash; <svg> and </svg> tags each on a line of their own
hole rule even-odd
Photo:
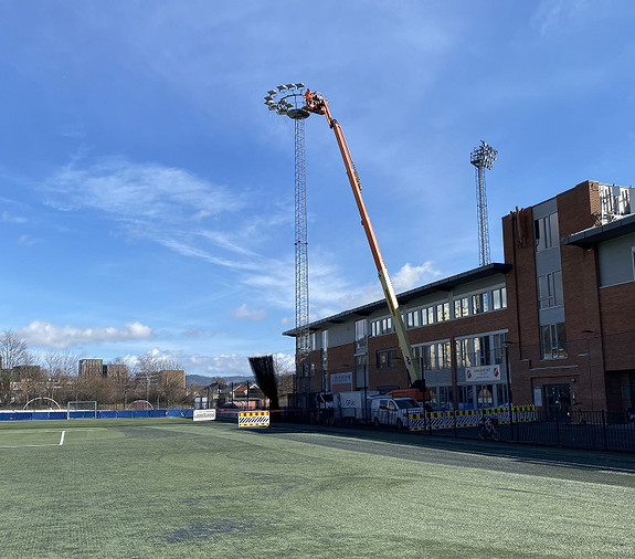
<svg viewBox="0 0 635 559">
<path fill-rule="evenodd" d="M 586 181 L 517 209 L 502 219 L 505 263 L 398 295 L 434 409 L 502 405 L 509 386 L 515 404 L 549 411 L 580 403 L 625 416 L 635 405 L 631 196 L 631 188 Z M 409 386 L 383 299 L 310 330 L 310 367 L 299 386 Z"/>
</svg>

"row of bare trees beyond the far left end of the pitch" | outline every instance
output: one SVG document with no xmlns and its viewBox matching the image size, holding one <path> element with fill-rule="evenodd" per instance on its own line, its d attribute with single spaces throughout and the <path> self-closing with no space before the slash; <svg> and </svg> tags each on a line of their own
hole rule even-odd
<svg viewBox="0 0 635 559">
<path fill-rule="evenodd" d="M 2 330 L 0 359 L 0 405 L 4 408 L 22 408 L 28 402 L 47 407 L 51 400 L 62 407 L 68 401 L 96 400 L 109 408 L 126 408 L 135 400 L 160 407 L 187 401 L 176 378 L 160 382 L 160 371 L 182 369 L 181 365 L 154 354 L 115 359 L 112 365 L 127 372 L 119 377 L 78 376 L 80 356 L 36 354 L 13 330 Z"/>
</svg>

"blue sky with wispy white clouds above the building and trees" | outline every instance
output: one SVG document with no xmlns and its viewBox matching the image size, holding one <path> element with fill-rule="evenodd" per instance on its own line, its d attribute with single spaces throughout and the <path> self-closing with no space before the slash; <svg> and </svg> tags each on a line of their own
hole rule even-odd
<svg viewBox="0 0 635 559">
<path fill-rule="evenodd" d="M 292 359 L 293 122 L 342 125 L 396 291 L 478 265 L 500 218 L 635 176 L 635 3 L 0 0 L 0 328 L 189 373 Z M 311 318 L 381 297 L 332 131 L 306 123 Z"/>
</svg>

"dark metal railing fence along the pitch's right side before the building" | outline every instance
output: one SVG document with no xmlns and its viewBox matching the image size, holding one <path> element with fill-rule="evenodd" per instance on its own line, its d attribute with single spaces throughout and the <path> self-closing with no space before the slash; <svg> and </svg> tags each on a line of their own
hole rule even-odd
<svg viewBox="0 0 635 559">
<path fill-rule="evenodd" d="M 625 422 L 621 416 L 611 418 L 605 411 L 532 410 L 522 413 L 514 408 L 511 422 L 505 409 L 474 411 L 467 421 L 464 413 L 444 412 L 443 426 L 435 418 L 438 412 L 416 414 L 420 416 L 411 418 L 409 426 L 411 431 L 430 436 L 635 452 L 635 423 Z"/>
</svg>

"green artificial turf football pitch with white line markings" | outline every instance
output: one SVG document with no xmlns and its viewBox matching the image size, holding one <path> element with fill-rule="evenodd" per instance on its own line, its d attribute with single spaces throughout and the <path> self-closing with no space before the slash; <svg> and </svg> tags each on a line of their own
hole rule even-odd
<svg viewBox="0 0 635 559">
<path fill-rule="evenodd" d="M 183 419 L 11 422 L 0 556 L 635 557 L 635 458 L 532 452 Z"/>
</svg>

